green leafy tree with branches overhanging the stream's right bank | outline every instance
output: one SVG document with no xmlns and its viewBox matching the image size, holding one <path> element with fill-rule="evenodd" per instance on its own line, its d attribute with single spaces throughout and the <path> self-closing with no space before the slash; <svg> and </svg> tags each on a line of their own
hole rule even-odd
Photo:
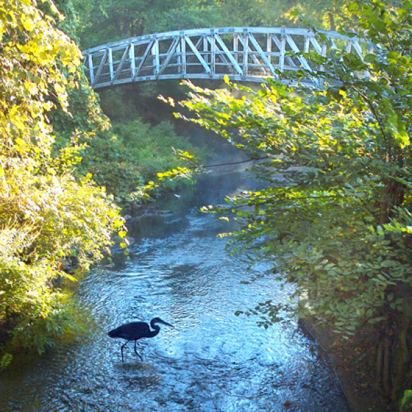
<svg viewBox="0 0 412 412">
<path fill-rule="evenodd" d="M 192 92 L 181 104 L 192 122 L 267 157 L 255 168 L 266 189 L 205 208 L 238 220 L 234 250 L 272 260 L 275 276 L 297 286 L 301 314 L 346 339 L 374 336 L 376 380 L 394 400 L 410 366 L 412 3 L 363 0 L 349 10 L 374 53 L 334 50 L 312 56 L 326 71 L 290 75 L 315 76 L 323 89 L 230 84 L 243 94 L 233 98 L 185 82 Z"/>
</svg>

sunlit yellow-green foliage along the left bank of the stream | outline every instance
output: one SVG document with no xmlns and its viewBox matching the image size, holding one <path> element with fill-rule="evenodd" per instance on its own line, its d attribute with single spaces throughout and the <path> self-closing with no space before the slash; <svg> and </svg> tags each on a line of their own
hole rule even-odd
<svg viewBox="0 0 412 412">
<path fill-rule="evenodd" d="M 70 116 L 67 84 L 80 52 L 56 28 L 52 1 L 0 0 L 0 329 L 10 347 L 43 352 L 73 327 L 60 290 L 65 261 L 102 258 L 123 219 L 89 176 L 74 178 L 79 148 L 55 150 L 52 110 Z M 5 339 L 6 338 L 6 339 Z"/>
</svg>

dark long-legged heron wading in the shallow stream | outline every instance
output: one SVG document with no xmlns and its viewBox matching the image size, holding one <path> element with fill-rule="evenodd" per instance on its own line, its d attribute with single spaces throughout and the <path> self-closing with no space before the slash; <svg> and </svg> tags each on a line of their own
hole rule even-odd
<svg viewBox="0 0 412 412">
<path fill-rule="evenodd" d="M 130 322 L 125 323 L 124 325 L 119 326 L 119 328 L 113 329 L 108 332 L 108 336 L 110 336 L 111 338 L 126 339 L 126 343 L 122 345 L 122 363 L 124 363 L 123 348 L 131 341 L 135 341 L 135 354 L 137 354 L 141 361 L 143 361 L 143 358 L 140 356 L 140 354 L 137 353 L 136 342 L 141 338 L 153 338 L 154 336 L 159 334 L 160 327 L 156 325 L 156 323 L 162 323 L 163 325 L 173 328 L 170 323 L 162 321 L 160 318 L 155 317 L 150 321 L 150 326 L 154 330 L 150 330 L 149 325 L 146 322 Z"/>
</svg>

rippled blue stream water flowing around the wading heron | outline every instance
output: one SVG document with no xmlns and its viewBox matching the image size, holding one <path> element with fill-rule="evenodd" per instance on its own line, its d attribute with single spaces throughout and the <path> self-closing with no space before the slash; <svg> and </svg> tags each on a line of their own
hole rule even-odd
<svg viewBox="0 0 412 412">
<path fill-rule="evenodd" d="M 295 319 L 265 330 L 237 317 L 258 302 L 282 303 L 288 290 L 266 267 L 247 271 L 229 256 L 225 222 L 198 211 L 222 201 L 237 174 L 209 176 L 174 211 L 135 222 L 131 262 L 92 271 L 78 290 L 90 333 L 0 376 L 0 411 L 345 412 L 341 389 L 316 344 Z M 153 339 L 124 350 L 106 335 L 122 323 L 161 317 Z"/>
</svg>

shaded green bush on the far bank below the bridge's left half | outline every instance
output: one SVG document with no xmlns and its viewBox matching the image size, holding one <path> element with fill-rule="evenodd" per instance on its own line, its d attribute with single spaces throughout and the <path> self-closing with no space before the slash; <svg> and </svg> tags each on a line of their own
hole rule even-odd
<svg viewBox="0 0 412 412">
<path fill-rule="evenodd" d="M 159 170 L 181 167 L 175 153 L 190 150 L 204 155 L 187 139 L 176 135 L 168 122 L 150 126 L 135 119 L 125 124 L 115 124 L 107 133 L 92 139 L 83 152 L 80 173 L 93 174 L 93 180 L 115 196 L 118 204 L 139 202 L 136 188 L 157 179 Z M 170 190 L 181 184 L 174 179 L 157 185 L 152 195 Z"/>
</svg>

